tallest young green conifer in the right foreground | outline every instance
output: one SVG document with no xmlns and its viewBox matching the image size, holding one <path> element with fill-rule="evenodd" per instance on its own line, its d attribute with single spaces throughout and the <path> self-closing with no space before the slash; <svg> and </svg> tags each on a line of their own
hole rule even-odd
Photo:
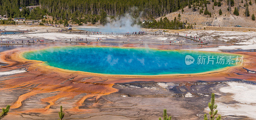
<svg viewBox="0 0 256 120">
<path fill-rule="evenodd" d="M 210 115 L 210 120 L 214 120 L 214 116 L 217 115 L 218 110 L 217 110 L 217 105 L 215 104 L 215 95 L 212 93 L 212 98 L 211 102 L 208 103 L 208 107 L 210 109 L 209 115 Z M 204 120 L 208 120 L 207 115 L 204 114 Z M 221 120 L 221 116 L 219 115 L 216 120 Z"/>
</svg>

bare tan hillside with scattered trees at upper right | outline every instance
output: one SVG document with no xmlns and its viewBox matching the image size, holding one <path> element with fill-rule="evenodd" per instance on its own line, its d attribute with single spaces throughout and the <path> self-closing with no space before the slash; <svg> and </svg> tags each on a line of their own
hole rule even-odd
<svg viewBox="0 0 256 120">
<path fill-rule="evenodd" d="M 244 7 L 245 1 L 241 3 L 241 0 L 235 1 L 235 6 L 231 7 L 231 14 L 229 13 L 228 4 L 226 0 L 223 0 L 221 2 L 221 6 L 214 6 L 214 10 L 212 9 L 213 2 L 211 1 L 210 4 L 207 4 L 207 9 L 209 12 L 211 12 L 212 17 L 209 17 L 209 15 L 204 15 L 204 13 L 199 14 L 200 9 L 202 7 L 199 7 L 199 10 L 197 9 L 198 6 L 196 6 L 196 11 L 193 12 L 192 8 L 185 7 L 184 12 L 182 13 L 181 10 L 177 12 L 172 12 L 170 14 L 167 14 L 165 17 L 167 17 L 169 20 L 173 20 L 174 17 L 177 17 L 180 13 L 181 15 L 181 21 L 186 21 L 187 23 L 196 24 L 197 25 L 216 25 L 216 26 L 235 26 L 235 25 L 241 25 L 242 27 L 256 27 L 256 21 L 252 20 L 252 14 L 256 15 L 256 4 L 255 1 L 251 1 L 252 5 L 249 5 L 249 12 L 250 16 L 245 17 L 245 9 L 242 7 L 239 7 L 239 16 L 236 16 L 233 14 L 235 7 L 241 5 Z M 249 3 L 249 1 L 248 1 Z M 221 9 L 222 15 L 219 15 L 219 10 Z M 204 7 L 205 10 L 205 7 Z M 164 17 L 164 16 L 163 16 Z M 162 17 L 162 18 L 163 18 Z M 157 18 L 156 20 L 159 20 L 160 18 Z"/>
</svg>

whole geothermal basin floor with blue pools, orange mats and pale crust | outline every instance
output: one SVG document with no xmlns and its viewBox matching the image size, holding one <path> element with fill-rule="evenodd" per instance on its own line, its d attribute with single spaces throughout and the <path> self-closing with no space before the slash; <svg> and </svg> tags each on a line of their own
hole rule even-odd
<svg viewBox="0 0 256 120">
<path fill-rule="evenodd" d="M 256 32 L 111 24 L 0 26 L 3 119 L 202 120 L 212 93 L 222 120 L 256 118 Z"/>
</svg>

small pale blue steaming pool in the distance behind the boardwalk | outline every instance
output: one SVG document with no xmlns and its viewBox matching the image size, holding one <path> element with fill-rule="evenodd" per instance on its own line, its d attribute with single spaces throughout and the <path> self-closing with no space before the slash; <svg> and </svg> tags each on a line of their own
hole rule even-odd
<svg viewBox="0 0 256 120">
<path fill-rule="evenodd" d="M 79 30 L 91 31 L 91 32 L 107 32 L 107 33 L 126 33 L 126 32 L 138 32 L 140 29 L 134 28 L 106 28 L 106 27 L 75 27 Z"/>
</svg>

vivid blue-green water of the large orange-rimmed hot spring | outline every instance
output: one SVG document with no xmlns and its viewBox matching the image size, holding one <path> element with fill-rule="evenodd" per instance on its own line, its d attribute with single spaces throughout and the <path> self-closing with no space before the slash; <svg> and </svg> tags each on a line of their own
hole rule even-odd
<svg viewBox="0 0 256 120">
<path fill-rule="evenodd" d="M 187 55 L 195 59 L 194 63 L 186 65 Z M 208 56 L 226 58 L 230 55 L 236 57 L 234 54 L 215 52 L 68 46 L 25 52 L 23 57 L 29 60 L 45 61 L 49 66 L 75 71 L 113 75 L 162 75 L 200 73 L 234 66 L 236 64 L 217 64 L 217 59 L 211 59 L 214 62 L 213 65 L 212 62 L 207 64 Z M 204 64 L 197 64 L 198 56 L 207 56 Z"/>
</svg>

